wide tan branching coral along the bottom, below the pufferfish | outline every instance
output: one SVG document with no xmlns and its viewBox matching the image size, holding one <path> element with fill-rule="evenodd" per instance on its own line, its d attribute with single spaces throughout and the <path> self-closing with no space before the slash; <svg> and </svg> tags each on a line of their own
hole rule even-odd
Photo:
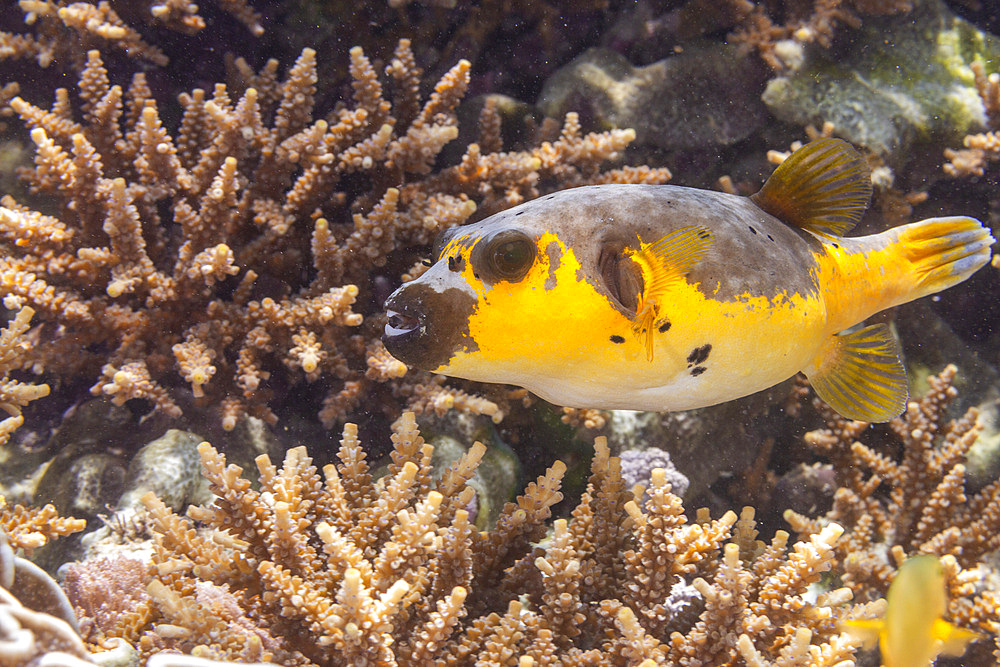
<svg viewBox="0 0 1000 667">
<path fill-rule="evenodd" d="M 603 438 L 587 492 L 544 541 L 561 463 L 478 532 L 466 482 L 485 448 L 435 482 L 412 414 L 393 443 L 375 480 L 348 424 L 338 464 L 319 471 L 304 448 L 280 468 L 260 457 L 259 487 L 202 444 L 215 502 L 185 520 L 144 498 L 146 594 L 129 606 L 83 587 L 78 611 L 103 619 L 89 640 L 284 665 L 845 665 L 855 644 L 838 620 L 877 610 L 845 605 L 847 589 L 807 595 L 836 566 L 838 526 L 789 550 L 783 532 L 756 540 L 749 509 L 689 522 L 663 470 L 647 500 L 626 490 Z"/>
</svg>

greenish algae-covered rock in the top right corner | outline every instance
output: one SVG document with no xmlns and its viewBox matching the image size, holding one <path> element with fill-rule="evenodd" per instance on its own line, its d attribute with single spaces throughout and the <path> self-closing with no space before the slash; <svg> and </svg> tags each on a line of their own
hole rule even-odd
<svg viewBox="0 0 1000 667">
<path fill-rule="evenodd" d="M 829 121 L 838 136 L 884 157 L 932 137 L 956 144 L 983 127 L 969 64 L 996 62 L 1000 42 L 940 0 L 865 17 L 850 39 L 843 48 L 809 46 L 797 71 L 772 79 L 763 95 L 771 112 L 797 125 Z"/>
</svg>

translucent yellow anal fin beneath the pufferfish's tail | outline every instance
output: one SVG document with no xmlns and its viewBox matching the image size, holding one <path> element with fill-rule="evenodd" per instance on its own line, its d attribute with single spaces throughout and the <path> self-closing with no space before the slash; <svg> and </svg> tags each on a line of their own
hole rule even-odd
<svg viewBox="0 0 1000 667">
<path fill-rule="evenodd" d="M 803 372 L 819 397 L 848 419 L 887 422 L 906 409 L 906 369 L 885 324 L 831 336 Z"/>
</svg>

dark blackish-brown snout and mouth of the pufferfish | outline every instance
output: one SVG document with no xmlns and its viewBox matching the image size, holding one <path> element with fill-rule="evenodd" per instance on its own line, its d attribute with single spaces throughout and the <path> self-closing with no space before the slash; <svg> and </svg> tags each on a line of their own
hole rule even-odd
<svg viewBox="0 0 1000 667">
<path fill-rule="evenodd" d="M 407 366 L 443 371 L 457 351 L 475 348 L 469 317 L 476 304 L 465 279 L 438 262 L 386 299 L 382 342 Z"/>
</svg>

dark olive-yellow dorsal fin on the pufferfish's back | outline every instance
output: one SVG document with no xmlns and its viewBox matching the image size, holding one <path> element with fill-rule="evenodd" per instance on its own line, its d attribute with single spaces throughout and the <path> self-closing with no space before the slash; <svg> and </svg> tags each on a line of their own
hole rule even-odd
<svg viewBox="0 0 1000 667">
<path fill-rule="evenodd" d="M 786 224 L 843 236 L 871 197 L 871 172 L 861 154 L 843 139 L 824 137 L 792 153 L 750 199 Z"/>
</svg>

